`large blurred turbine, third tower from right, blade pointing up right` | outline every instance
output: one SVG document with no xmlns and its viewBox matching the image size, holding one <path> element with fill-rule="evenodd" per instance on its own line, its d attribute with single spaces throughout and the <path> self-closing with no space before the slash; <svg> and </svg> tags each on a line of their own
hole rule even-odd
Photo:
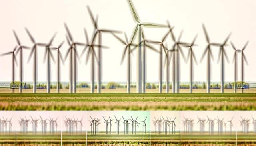
<svg viewBox="0 0 256 146">
<path fill-rule="evenodd" d="M 225 39 L 225 41 L 220 45 L 220 51 L 218 55 L 218 62 L 220 61 L 220 93 L 224 93 L 224 58 L 229 62 L 228 55 L 224 49 L 231 33 Z"/>
</svg>

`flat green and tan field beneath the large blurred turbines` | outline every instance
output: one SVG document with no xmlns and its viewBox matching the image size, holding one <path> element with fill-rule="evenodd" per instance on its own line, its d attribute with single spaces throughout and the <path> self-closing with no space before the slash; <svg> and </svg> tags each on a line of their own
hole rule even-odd
<svg viewBox="0 0 256 146">
<path fill-rule="evenodd" d="M 42 90 L 28 93 L 24 89 L 20 94 L 0 89 L 0 110 L 256 110 L 256 89 L 244 93 L 200 93 L 202 89 L 194 90 L 198 93 L 156 93 L 148 89 L 140 94 L 124 93 L 125 89 L 105 89 L 105 93 L 40 93 Z M 82 90 L 86 89 L 78 89 Z"/>
</svg>

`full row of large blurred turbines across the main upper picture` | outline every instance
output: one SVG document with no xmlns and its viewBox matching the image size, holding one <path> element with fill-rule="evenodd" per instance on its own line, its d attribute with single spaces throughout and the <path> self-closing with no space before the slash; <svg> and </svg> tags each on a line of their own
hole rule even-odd
<svg viewBox="0 0 256 146">
<path fill-rule="evenodd" d="M 124 57 L 126 55 L 127 58 L 127 92 L 130 93 L 130 83 L 131 83 L 131 64 L 130 64 L 130 59 L 131 56 L 130 54 L 136 49 L 137 50 L 137 81 L 136 81 L 136 91 L 137 93 L 145 93 L 146 92 L 146 49 L 151 49 L 155 51 L 156 53 L 159 54 L 159 92 L 162 93 L 162 84 L 163 84 L 163 55 L 165 56 L 165 66 L 166 66 L 166 93 L 169 93 L 169 66 L 170 63 L 172 63 L 172 93 L 178 93 L 180 89 L 179 85 L 179 80 L 180 80 L 180 55 L 182 55 L 183 59 L 190 63 L 190 71 L 189 71 L 189 92 L 192 93 L 192 85 L 193 85 L 193 63 L 196 61 L 196 56 L 193 51 L 193 47 L 196 46 L 196 37 L 194 37 L 192 43 L 187 43 L 184 41 L 181 41 L 182 33 L 183 31 L 180 32 L 180 35 L 178 39 L 176 39 L 173 29 L 174 26 L 171 26 L 170 23 L 167 21 L 167 25 L 162 25 L 162 24 L 154 24 L 154 23 L 143 23 L 140 22 L 140 18 L 134 8 L 134 5 L 132 4 L 131 0 L 128 0 L 128 4 L 132 10 L 132 14 L 134 16 L 134 20 L 136 22 L 136 27 L 134 29 L 134 33 L 131 36 L 131 39 L 128 40 L 127 35 L 125 34 L 125 40 L 121 39 L 120 37 L 117 36 L 117 34 L 121 33 L 121 31 L 118 30 L 110 30 L 110 29 L 104 29 L 104 28 L 99 28 L 98 26 L 98 15 L 94 17 L 92 14 L 92 11 L 90 8 L 88 8 L 88 12 L 90 15 L 90 18 L 93 22 L 94 25 L 94 34 L 89 40 L 88 34 L 86 29 L 84 29 L 84 34 L 85 34 L 85 42 L 78 42 L 73 39 L 73 36 L 67 26 L 67 24 L 64 24 L 65 29 L 66 29 L 66 41 L 69 45 L 68 51 L 66 52 L 65 57 L 62 57 L 62 54 L 60 52 L 60 48 L 64 44 L 64 41 L 58 45 L 58 47 L 52 47 L 52 42 L 54 41 L 54 38 L 56 36 L 56 33 L 54 36 L 50 39 L 48 43 L 40 43 L 34 39 L 34 37 L 31 35 L 29 30 L 25 28 L 30 40 L 32 41 L 32 47 L 28 47 L 26 45 L 23 45 L 18 38 L 17 34 L 15 31 L 14 36 L 17 41 L 17 45 L 14 47 L 13 51 L 4 53 L 2 55 L 12 55 L 12 81 L 14 81 L 14 76 L 15 76 L 15 64 L 17 64 L 16 61 L 16 55 L 20 53 L 20 63 L 19 63 L 19 69 L 20 69 L 20 83 L 22 83 L 22 77 L 23 77 L 23 50 L 24 49 L 31 49 L 30 55 L 28 57 L 28 61 L 33 56 L 33 92 L 36 93 L 36 84 L 37 84 L 37 47 L 45 47 L 45 53 L 44 53 L 44 61 L 47 62 L 47 89 L 46 92 L 50 92 L 50 62 L 56 62 L 57 61 L 57 93 L 59 93 L 59 87 L 60 87 L 60 63 L 61 61 L 64 62 L 64 60 L 67 59 L 69 56 L 69 65 L 70 65 L 70 70 L 69 70 L 69 92 L 70 93 L 76 93 L 76 74 L 77 74 L 77 61 L 80 60 L 80 57 L 84 55 L 85 51 L 87 50 L 86 54 L 86 63 L 88 62 L 88 59 L 91 59 L 91 89 L 90 92 L 94 93 L 94 65 L 96 61 L 97 65 L 97 92 L 101 92 L 101 83 L 102 83 L 102 49 L 108 48 L 106 46 L 102 45 L 102 34 L 105 33 L 110 33 L 113 34 L 116 39 L 118 39 L 122 44 L 125 45 L 124 52 L 122 54 L 122 60 L 121 63 L 124 61 Z M 143 27 L 162 27 L 162 28 L 168 28 L 168 31 L 166 34 L 164 34 L 163 38 L 160 41 L 156 40 L 149 40 L 145 39 L 144 36 L 144 31 Z M 226 50 L 224 49 L 228 45 L 228 40 L 230 38 L 230 35 L 226 37 L 226 39 L 222 43 L 215 43 L 211 42 L 209 35 L 206 31 L 206 27 L 204 24 L 202 25 L 204 35 L 206 37 L 207 41 L 207 46 L 206 49 L 203 52 L 203 55 L 200 59 L 202 61 L 204 57 L 206 56 L 206 91 L 207 93 L 210 93 L 210 76 L 211 76 L 211 70 L 210 70 L 210 65 L 211 61 L 214 59 L 212 55 L 212 50 L 211 47 L 219 47 L 219 55 L 218 55 L 218 62 L 220 61 L 221 63 L 221 79 L 220 79 L 220 92 L 224 92 L 224 62 L 225 59 L 227 62 L 229 62 L 228 56 L 226 54 Z M 134 39 L 138 35 L 138 43 L 134 43 Z M 172 39 L 172 47 L 168 49 L 167 44 L 166 44 L 166 38 L 170 35 Z M 98 39 L 98 44 L 96 44 L 96 39 Z M 155 49 L 152 44 L 159 45 L 160 49 Z M 244 55 L 244 49 L 246 49 L 246 46 L 248 45 L 248 42 L 244 45 L 242 49 L 236 49 L 234 44 L 230 42 L 232 45 L 232 48 L 234 49 L 234 92 L 236 93 L 236 82 L 237 82 L 237 57 L 238 53 L 241 53 L 241 80 L 242 80 L 242 87 L 241 87 L 241 92 L 243 92 L 243 81 L 244 81 L 244 62 L 248 64 L 248 61 Z M 82 54 L 78 55 L 77 47 L 82 46 L 84 49 L 82 50 Z M 97 48 L 97 50 L 95 50 Z M 182 48 L 188 48 L 188 56 L 185 57 Z M 52 54 L 52 50 L 57 51 L 57 56 L 56 56 L 56 61 L 54 59 L 54 56 Z M 97 52 L 96 52 L 97 51 Z M 20 84 L 19 87 L 20 93 L 22 93 L 22 84 Z"/>
</svg>

